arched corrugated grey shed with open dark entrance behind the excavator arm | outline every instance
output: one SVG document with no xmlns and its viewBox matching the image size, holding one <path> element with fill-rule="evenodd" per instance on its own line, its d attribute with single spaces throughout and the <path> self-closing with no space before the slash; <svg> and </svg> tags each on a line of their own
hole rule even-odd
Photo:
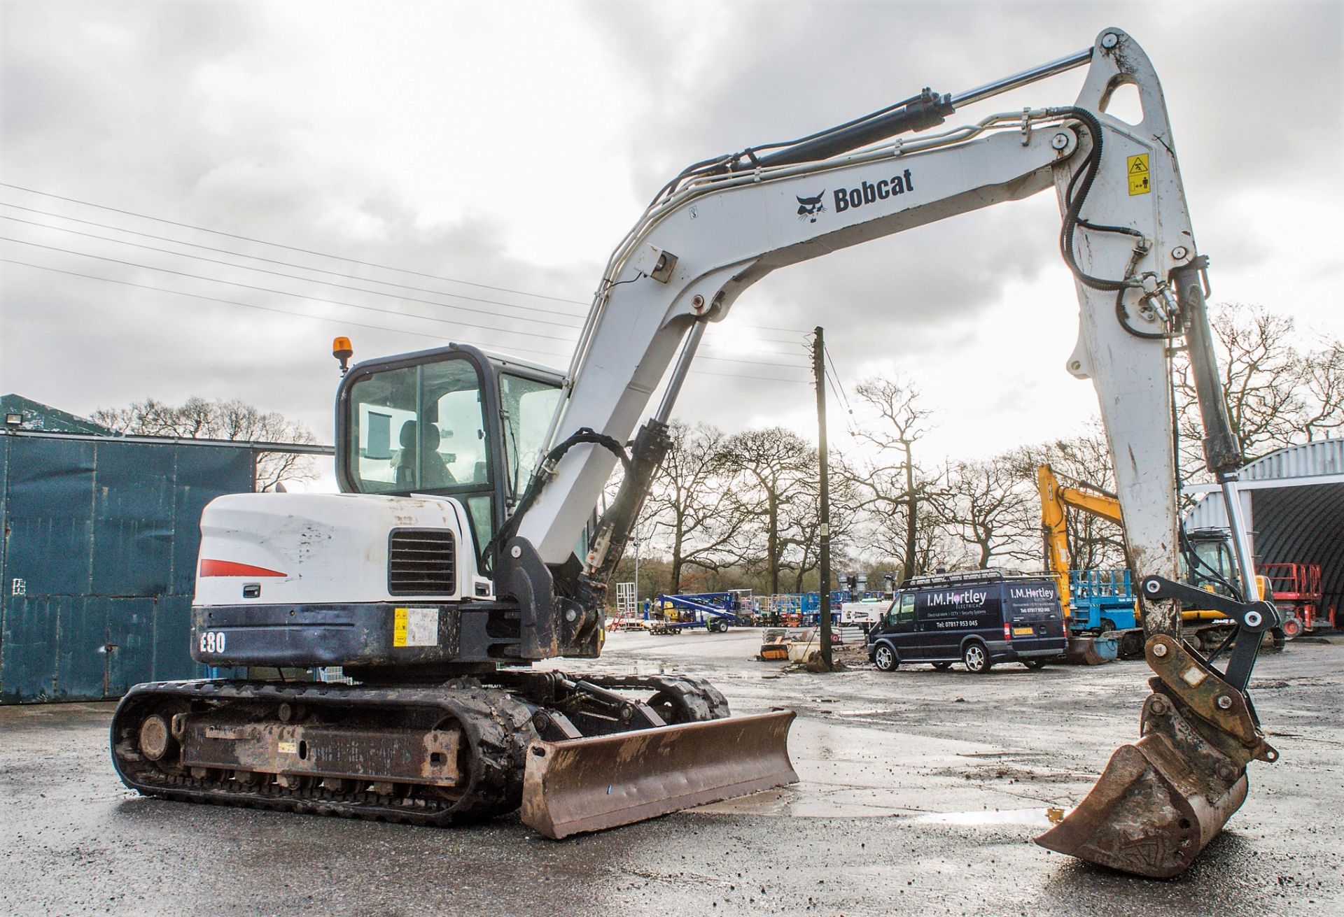
<svg viewBox="0 0 1344 917">
<path fill-rule="evenodd" d="M 1255 561 L 1320 564 L 1324 604 L 1344 611 L 1344 439 L 1257 459 L 1242 469 L 1238 490 Z M 1207 493 L 1185 516 L 1185 529 L 1214 526 L 1227 526 L 1227 512 L 1218 493 Z"/>
</svg>

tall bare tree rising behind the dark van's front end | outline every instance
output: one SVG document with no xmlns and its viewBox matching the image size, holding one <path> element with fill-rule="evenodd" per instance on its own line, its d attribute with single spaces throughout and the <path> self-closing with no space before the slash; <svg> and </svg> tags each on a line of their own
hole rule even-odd
<svg viewBox="0 0 1344 917">
<path fill-rule="evenodd" d="M 878 415 L 872 426 L 862 426 L 857 438 L 876 446 L 875 466 L 849 466 L 845 479 L 855 491 L 855 508 L 871 513 L 886 533 L 900 532 L 902 576 L 927 569 L 937 536 L 923 530 L 925 503 L 937 494 L 937 479 L 915 462 L 915 443 L 929 431 L 930 412 L 919 404 L 919 389 L 905 379 L 874 376 L 859 383 L 859 397 Z M 921 544 L 923 542 L 923 544 Z"/>
</svg>

